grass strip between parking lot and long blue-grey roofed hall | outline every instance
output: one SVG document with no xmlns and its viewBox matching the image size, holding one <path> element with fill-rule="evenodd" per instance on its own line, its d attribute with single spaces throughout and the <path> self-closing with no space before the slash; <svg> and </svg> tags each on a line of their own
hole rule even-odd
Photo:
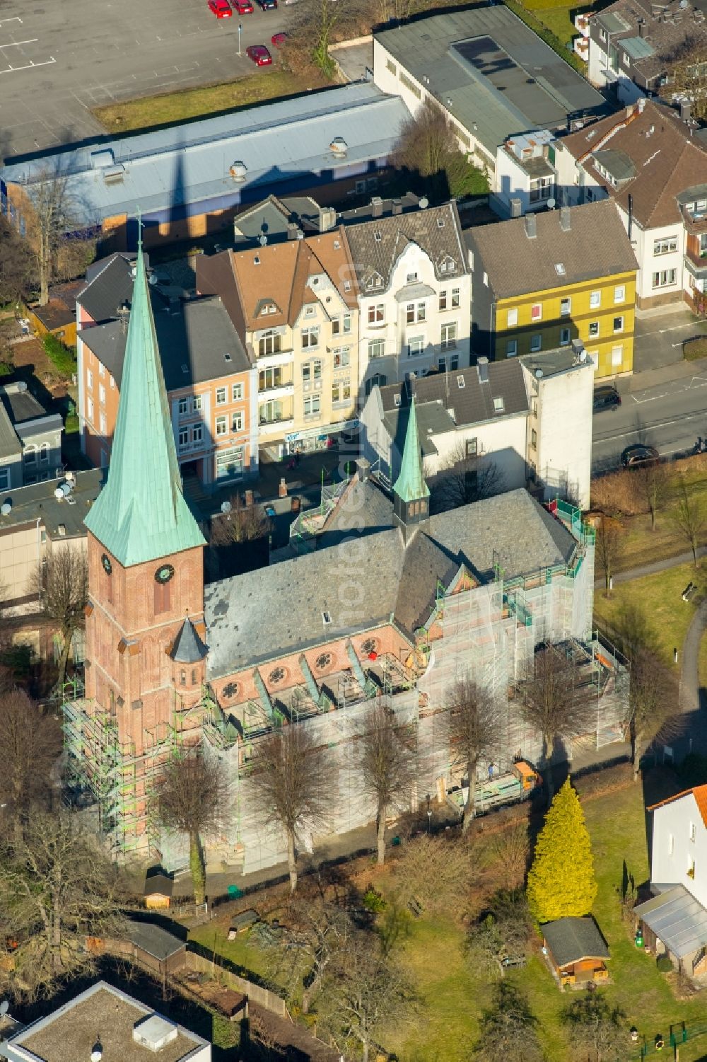
<svg viewBox="0 0 707 1062">
<path fill-rule="evenodd" d="M 241 109 L 264 100 L 320 88 L 323 84 L 324 81 L 305 84 L 295 74 L 274 66 L 266 72 L 253 73 L 238 81 L 110 103 L 104 107 L 94 107 L 92 114 L 109 133 L 127 133 L 151 125 L 201 118 L 220 110 Z"/>
</svg>

